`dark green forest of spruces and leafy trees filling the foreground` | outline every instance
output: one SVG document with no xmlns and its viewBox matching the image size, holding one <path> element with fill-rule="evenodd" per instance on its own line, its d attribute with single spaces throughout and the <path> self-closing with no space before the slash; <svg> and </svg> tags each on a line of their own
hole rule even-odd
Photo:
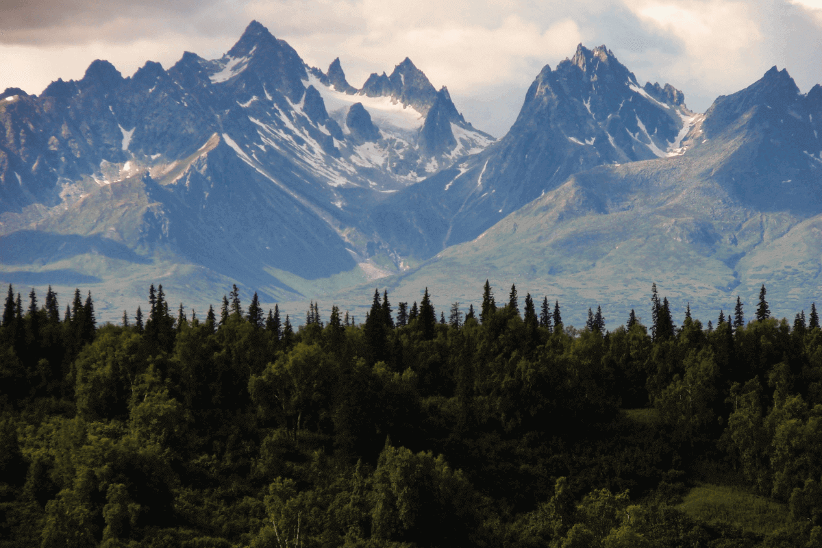
<svg viewBox="0 0 822 548">
<path fill-rule="evenodd" d="M 815 305 L 703 323 L 654 286 L 606 331 L 479 292 L 295 329 L 236 286 L 202 317 L 152 286 L 122 325 L 10 286 L 0 545 L 822 546 Z M 750 504 L 702 515 L 705 486 Z"/>
</svg>

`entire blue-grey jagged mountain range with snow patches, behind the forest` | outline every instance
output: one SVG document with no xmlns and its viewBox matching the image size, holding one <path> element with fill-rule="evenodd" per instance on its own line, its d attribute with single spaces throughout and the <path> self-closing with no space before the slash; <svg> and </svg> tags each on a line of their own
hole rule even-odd
<svg viewBox="0 0 822 548">
<path fill-rule="evenodd" d="M 90 288 L 105 320 L 149 283 L 302 311 L 376 285 L 467 306 L 490 279 L 609 326 L 653 282 L 704 321 L 762 283 L 777 315 L 819 293 L 822 87 L 775 67 L 693 113 L 580 44 L 495 140 L 409 58 L 357 89 L 253 21 L 219 59 L 7 89 L 0 122 L 0 282 Z"/>
</svg>

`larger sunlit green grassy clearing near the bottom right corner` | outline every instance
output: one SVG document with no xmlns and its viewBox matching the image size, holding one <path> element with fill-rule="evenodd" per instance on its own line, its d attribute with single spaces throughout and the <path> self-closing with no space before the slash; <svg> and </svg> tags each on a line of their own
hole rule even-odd
<svg viewBox="0 0 822 548">
<path fill-rule="evenodd" d="M 709 483 L 691 489 L 677 508 L 705 523 L 728 523 L 760 535 L 773 532 L 788 521 L 785 504 L 751 495 L 739 487 Z"/>
</svg>

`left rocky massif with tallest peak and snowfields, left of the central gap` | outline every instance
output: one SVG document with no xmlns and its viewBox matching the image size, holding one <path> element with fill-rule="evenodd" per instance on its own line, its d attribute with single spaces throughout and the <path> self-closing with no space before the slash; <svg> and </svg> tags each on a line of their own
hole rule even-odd
<svg viewBox="0 0 822 548">
<path fill-rule="evenodd" d="M 390 254 L 363 211 L 492 139 L 447 93 L 437 120 L 466 127 L 461 140 L 423 131 L 439 96 L 409 59 L 387 81 L 386 95 L 354 90 L 339 59 L 327 73 L 307 67 L 254 21 L 219 59 L 184 53 L 169 70 L 147 62 L 132 77 L 95 61 L 81 81 L 53 82 L 39 97 L 6 90 L 3 260 L 75 234 L 278 288 L 266 269 L 316 279 Z M 65 246 L 61 257 L 71 256 Z"/>
</svg>

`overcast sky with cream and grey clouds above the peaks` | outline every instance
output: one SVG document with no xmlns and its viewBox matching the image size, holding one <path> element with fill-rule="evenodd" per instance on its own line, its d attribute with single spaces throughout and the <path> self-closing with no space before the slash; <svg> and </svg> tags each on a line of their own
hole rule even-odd
<svg viewBox="0 0 822 548">
<path fill-rule="evenodd" d="M 408 56 L 495 136 L 538 71 L 580 42 L 606 44 L 640 83 L 670 83 L 700 112 L 774 65 L 803 93 L 822 83 L 822 0 L 3 0 L 0 90 L 39 94 L 96 58 L 123 76 L 183 51 L 218 58 L 252 19 L 309 65 L 339 57 L 357 87 Z"/>
</svg>

